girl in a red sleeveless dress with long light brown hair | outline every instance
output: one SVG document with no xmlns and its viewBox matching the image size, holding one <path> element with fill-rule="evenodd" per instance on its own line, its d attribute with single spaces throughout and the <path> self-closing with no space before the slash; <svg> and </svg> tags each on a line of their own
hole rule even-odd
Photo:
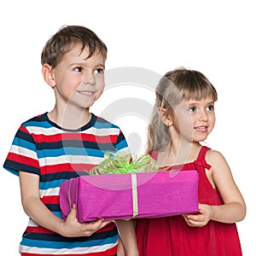
<svg viewBox="0 0 256 256">
<path fill-rule="evenodd" d="M 138 219 L 140 256 L 241 255 L 236 222 L 246 206 L 224 156 L 201 145 L 215 123 L 217 92 L 200 72 L 176 69 L 160 79 L 148 125 L 147 152 L 160 166 L 197 170 L 199 210 Z"/>
</svg>

